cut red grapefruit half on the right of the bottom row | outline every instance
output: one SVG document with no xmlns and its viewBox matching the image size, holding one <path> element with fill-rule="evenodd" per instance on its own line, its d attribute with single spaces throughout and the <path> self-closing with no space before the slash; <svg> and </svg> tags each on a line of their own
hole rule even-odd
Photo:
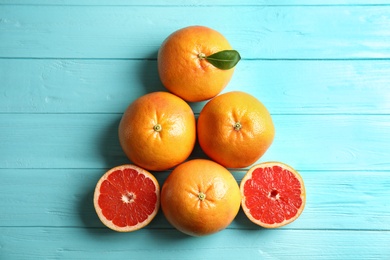
<svg viewBox="0 0 390 260">
<path fill-rule="evenodd" d="M 251 167 L 241 181 L 240 191 L 245 215 L 265 228 L 293 222 L 306 203 L 302 177 L 281 162 L 264 162 Z"/>
</svg>

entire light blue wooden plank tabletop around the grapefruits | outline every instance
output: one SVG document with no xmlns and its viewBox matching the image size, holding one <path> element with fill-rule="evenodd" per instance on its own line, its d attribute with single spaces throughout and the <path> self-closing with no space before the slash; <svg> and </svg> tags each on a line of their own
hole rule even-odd
<svg viewBox="0 0 390 260">
<path fill-rule="evenodd" d="M 0 0 L 0 259 L 390 259 L 390 1 L 133 2 Z M 241 53 L 224 92 L 267 106 L 276 137 L 259 161 L 299 170 L 307 206 L 275 230 L 240 212 L 193 238 L 160 212 L 113 232 L 92 194 L 128 163 L 119 120 L 164 90 L 159 45 L 194 24 Z"/>
</svg>

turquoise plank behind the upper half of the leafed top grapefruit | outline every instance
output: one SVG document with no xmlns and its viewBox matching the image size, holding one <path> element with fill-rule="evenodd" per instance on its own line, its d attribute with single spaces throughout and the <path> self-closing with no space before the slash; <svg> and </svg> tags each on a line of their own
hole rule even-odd
<svg viewBox="0 0 390 260">
<path fill-rule="evenodd" d="M 237 14 L 245 19 L 231 19 Z M 0 57 L 152 58 L 173 31 L 204 24 L 244 59 L 383 59 L 390 57 L 389 16 L 387 5 L 3 5 Z"/>
</svg>

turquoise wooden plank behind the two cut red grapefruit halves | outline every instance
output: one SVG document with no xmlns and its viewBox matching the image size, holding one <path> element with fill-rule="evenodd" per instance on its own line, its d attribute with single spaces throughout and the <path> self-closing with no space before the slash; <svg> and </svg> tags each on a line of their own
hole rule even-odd
<svg viewBox="0 0 390 260">
<path fill-rule="evenodd" d="M 93 192 L 107 169 L 0 169 L 2 227 L 103 228 Z M 170 172 L 154 173 L 162 186 Z M 244 171 L 232 171 L 240 183 Z M 307 203 L 286 229 L 390 231 L 390 175 L 385 171 L 301 171 Z M 353 219 L 353 221 L 351 221 Z M 149 229 L 169 229 L 160 211 Z M 261 230 L 242 211 L 228 227 Z"/>
</svg>

